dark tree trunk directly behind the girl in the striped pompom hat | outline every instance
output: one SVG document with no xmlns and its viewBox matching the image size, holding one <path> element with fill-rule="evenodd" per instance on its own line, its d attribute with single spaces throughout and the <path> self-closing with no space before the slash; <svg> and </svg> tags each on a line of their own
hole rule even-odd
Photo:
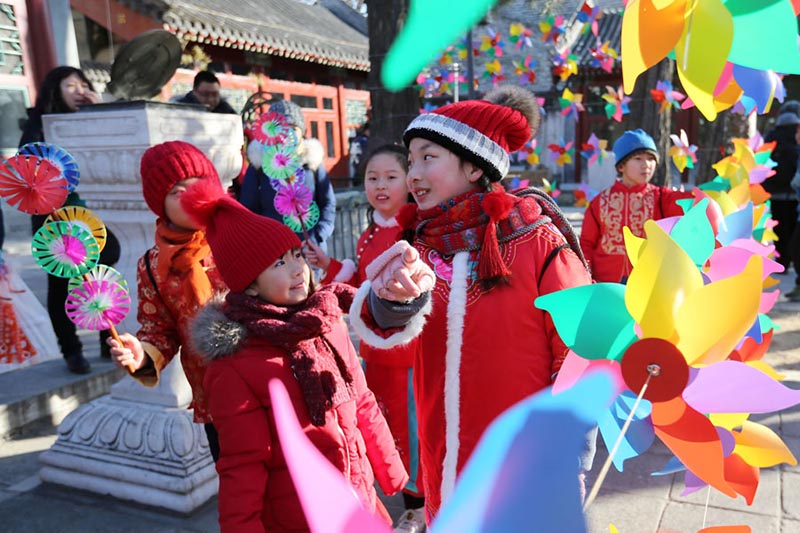
<svg viewBox="0 0 800 533">
<path fill-rule="evenodd" d="M 402 142 L 403 131 L 419 114 L 417 91 L 408 87 L 389 92 L 380 81 L 383 59 L 408 16 L 409 0 L 370 0 L 367 15 L 369 28 L 369 92 L 372 102 L 370 137 L 367 150 L 385 143 Z"/>
</svg>

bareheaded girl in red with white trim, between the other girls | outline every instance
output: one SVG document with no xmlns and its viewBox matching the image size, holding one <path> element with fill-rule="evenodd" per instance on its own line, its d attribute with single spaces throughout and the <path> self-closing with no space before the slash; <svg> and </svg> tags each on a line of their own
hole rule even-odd
<svg viewBox="0 0 800 533">
<path fill-rule="evenodd" d="M 402 146 L 386 144 L 376 148 L 365 160 L 364 190 L 372 206 L 372 224 L 358 239 L 358 268 L 349 259 L 339 262 L 331 259 L 313 243 L 308 247 L 306 259 L 312 266 L 326 272 L 322 283 L 341 281 L 359 286 L 367 279 L 366 267 L 373 259 L 397 242 L 400 227 L 395 219 L 400 208 L 408 203 L 408 150 Z M 414 391 L 411 387 L 412 366 L 416 343 L 378 350 L 362 344 L 359 352 L 366 362 L 369 388 L 375 393 L 389 428 L 394 435 L 403 465 L 411 474 L 411 481 L 403 490 L 407 512 L 403 514 L 398 529 L 407 532 L 425 530 L 421 470 L 419 469 L 419 440 L 414 412 Z"/>
</svg>

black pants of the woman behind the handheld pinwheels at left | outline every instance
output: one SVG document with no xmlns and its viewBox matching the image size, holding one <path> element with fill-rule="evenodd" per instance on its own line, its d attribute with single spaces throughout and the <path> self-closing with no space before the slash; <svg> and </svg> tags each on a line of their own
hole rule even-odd
<svg viewBox="0 0 800 533">
<path fill-rule="evenodd" d="M 33 231 L 36 232 L 44 223 L 46 216 L 34 215 L 31 217 Z M 116 235 L 111 230 L 106 229 L 106 245 L 100 252 L 100 263 L 113 266 L 119 261 L 120 245 Z M 78 338 L 78 331 L 75 324 L 67 316 L 64 303 L 67 301 L 69 279 L 47 275 L 47 313 L 50 315 L 50 323 L 53 324 L 53 331 L 58 339 L 58 345 L 64 357 L 81 353 L 83 344 Z M 100 332 L 100 342 L 104 343 L 108 338 L 107 331 Z"/>
</svg>

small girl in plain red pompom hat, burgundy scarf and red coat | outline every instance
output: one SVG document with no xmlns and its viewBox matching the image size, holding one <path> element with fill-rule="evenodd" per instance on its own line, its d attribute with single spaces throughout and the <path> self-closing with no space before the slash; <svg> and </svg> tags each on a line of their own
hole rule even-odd
<svg viewBox="0 0 800 533">
<path fill-rule="evenodd" d="M 199 183 L 182 202 L 206 228 L 231 291 L 192 327 L 211 360 L 204 386 L 220 438 L 222 531 L 308 530 L 275 432 L 272 379 L 284 383 L 306 435 L 365 508 L 390 522 L 373 476 L 393 494 L 408 474 L 342 320 L 355 289 L 333 283 L 315 290 L 287 226 L 221 194 L 208 200 L 209 192 Z"/>
</svg>

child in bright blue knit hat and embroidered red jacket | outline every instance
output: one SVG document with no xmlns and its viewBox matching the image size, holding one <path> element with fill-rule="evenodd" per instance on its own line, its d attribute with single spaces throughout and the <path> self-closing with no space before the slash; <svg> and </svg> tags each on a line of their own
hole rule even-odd
<svg viewBox="0 0 800 533">
<path fill-rule="evenodd" d="M 679 216 L 675 203 L 691 192 L 652 185 L 658 165 L 656 143 L 644 130 L 628 130 L 614 143 L 619 179 L 598 194 L 586 209 L 581 228 L 581 248 L 596 281 L 624 282 L 631 272 L 622 228 L 644 236 L 644 222 Z"/>
</svg>

